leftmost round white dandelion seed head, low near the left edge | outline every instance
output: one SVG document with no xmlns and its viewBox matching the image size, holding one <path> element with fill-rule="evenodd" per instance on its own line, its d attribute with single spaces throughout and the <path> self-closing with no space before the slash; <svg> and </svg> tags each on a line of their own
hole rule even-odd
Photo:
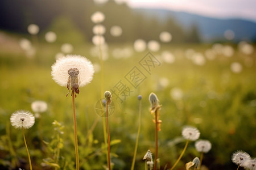
<svg viewBox="0 0 256 170">
<path fill-rule="evenodd" d="M 28 129 L 31 128 L 35 124 L 35 117 L 29 111 L 16 111 L 11 114 L 11 125 L 14 128 L 23 128 Z"/>
</svg>

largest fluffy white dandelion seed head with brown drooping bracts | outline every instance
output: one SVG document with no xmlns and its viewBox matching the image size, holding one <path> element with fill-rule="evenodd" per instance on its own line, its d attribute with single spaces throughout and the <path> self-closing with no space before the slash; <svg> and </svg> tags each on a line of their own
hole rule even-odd
<svg viewBox="0 0 256 170">
<path fill-rule="evenodd" d="M 68 55 L 57 59 L 52 65 L 52 78 L 60 86 L 69 86 L 76 94 L 79 94 L 79 87 L 90 83 L 93 78 L 92 63 L 82 56 Z"/>
</svg>

